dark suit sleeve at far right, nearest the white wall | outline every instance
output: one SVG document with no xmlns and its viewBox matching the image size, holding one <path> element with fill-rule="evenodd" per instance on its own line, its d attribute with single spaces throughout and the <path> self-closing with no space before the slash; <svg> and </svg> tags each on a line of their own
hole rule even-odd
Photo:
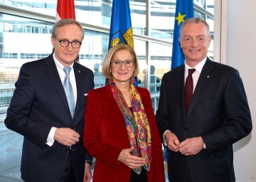
<svg viewBox="0 0 256 182">
<path fill-rule="evenodd" d="M 223 127 L 203 135 L 208 151 L 213 154 L 234 144 L 252 130 L 250 109 L 238 70 L 233 69 L 225 83 L 223 109 L 225 118 Z"/>
</svg>

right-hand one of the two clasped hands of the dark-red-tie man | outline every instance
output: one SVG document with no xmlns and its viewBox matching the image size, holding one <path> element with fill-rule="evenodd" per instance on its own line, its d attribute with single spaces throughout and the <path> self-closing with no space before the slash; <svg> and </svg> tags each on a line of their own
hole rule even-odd
<svg viewBox="0 0 256 182">
<path fill-rule="evenodd" d="M 178 151 L 185 156 L 193 156 L 198 154 L 203 149 L 202 137 L 193 137 L 181 142 L 178 146 Z"/>
</svg>

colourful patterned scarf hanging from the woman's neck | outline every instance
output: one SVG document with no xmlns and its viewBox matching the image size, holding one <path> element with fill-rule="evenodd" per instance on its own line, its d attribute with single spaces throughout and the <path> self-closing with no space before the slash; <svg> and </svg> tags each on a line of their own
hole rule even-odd
<svg viewBox="0 0 256 182">
<path fill-rule="evenodd" d="M 127 102 L 124 100 L 122 92 L 117 88 L 115 83 L 111 82 L 110 85 L 114 100 L 117 102 L 117 106 L 124 115 L 124 122 L 127 127 L 130 146 L 134 146 L 132 155 L 144 158 L 146 160 L 144 168 L 146 171 L 149 171 L 151 161 L 151 133 L 142 99 L 139 96 L 136 87 L 131 84 L 129 92 L 132 99 L 132 113 Z M 140 174 L 142 172 L 142 167 L 133 168 L 133 170 Z"/>
</svg>

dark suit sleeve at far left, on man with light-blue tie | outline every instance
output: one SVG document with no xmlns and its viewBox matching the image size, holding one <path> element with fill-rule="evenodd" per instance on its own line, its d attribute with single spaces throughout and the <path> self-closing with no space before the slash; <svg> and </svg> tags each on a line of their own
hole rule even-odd
<svg viewBox="0 0 256 182">
<path fill-rule="evenodd" d="M 14 90 L 14 95 L 11 98 L 4 123 L 7 128 L 30 139 L 34 144 L 42 146 L 46 144 L 51 127 L 43 124 L 43 122 L 29 119 L 34 100 L 34 88 L 31 77 L 26 64 L 23 65 L 15 84 L 16 90 Z"/>
</svg>

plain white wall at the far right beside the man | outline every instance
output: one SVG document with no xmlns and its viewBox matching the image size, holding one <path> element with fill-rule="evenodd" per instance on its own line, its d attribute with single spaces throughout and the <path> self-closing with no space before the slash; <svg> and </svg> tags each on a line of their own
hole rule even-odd
<svg viewBox="0 0 256 182">
<path fill-rule="evenodd" d="M 253 124 L 256 120 L 256 1 L 223 1 L 227 2 L 226 63 L 240 72 Z M 236 181 L 256 181 L 256 129 L 233 146 Z"/>
</svg>

